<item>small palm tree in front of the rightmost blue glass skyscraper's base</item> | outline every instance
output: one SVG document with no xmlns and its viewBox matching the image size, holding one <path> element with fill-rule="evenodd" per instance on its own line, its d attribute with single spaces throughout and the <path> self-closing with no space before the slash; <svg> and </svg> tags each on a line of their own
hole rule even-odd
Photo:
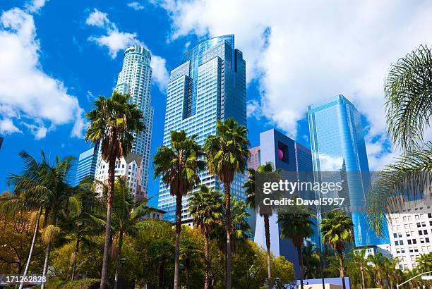
<svg viewBox="0 0 432 289">
<path fill-rule="evenodd" d="M 325 215 L 321 221 L 323 243 L 330 245 L 337 253 L 342 286 L 345 289 L 344 279 L 344 250 L 347 243 L 354 242 L 352 228 L 354 223 L 343 211 L 332 211 Z"/>
</svg>

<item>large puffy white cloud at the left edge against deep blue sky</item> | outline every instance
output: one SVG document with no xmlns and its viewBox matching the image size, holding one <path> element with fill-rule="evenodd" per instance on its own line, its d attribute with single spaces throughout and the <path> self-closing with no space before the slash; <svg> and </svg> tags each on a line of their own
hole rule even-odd
<svg viewBox="0 0 432 289">
<path fill-rule="evenodd" d="M 56 125 L 82 121 L 77 113 L 80 111 L 78 99 L 68 94 L 63 82 L 42 70 L 32 15 L 13 8 L 1 14 L 0 24 L 2 115 L 20 119 L 20 123 L 28 128 L 29 125 L 37 126 L 37 137 L 47 133 L 46 125 L 54 129 Z M 32 131 L 36 132 L 35 129 Z"/>
</svg>

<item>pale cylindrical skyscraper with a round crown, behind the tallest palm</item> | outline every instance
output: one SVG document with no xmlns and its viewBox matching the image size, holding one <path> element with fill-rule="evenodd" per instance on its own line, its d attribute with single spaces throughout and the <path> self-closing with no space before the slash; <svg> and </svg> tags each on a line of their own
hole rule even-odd
<svg viewBox="0 0 432 289">
<path fill-rule="evenodd" d="M 150 67 L 150 51 L 145 47 L 135 45 L 124 51 L 123 67 L 117 78 L 114 90 L 122 94 L 130 94 L 131 102 L 138 105 L 143 112 L 143 133 L 133 136 L 132 153 L 143 159 L 141 189 L 147 194 L 148 167 L 150 162 L 150 144 L 152 142 L 153 107 L 151 106 L 150 86 L 152 80 L 152 68 Z M 96 176 L 101 178 L 103 173 L 100 153 L 97 156 Z"/>
</svg>

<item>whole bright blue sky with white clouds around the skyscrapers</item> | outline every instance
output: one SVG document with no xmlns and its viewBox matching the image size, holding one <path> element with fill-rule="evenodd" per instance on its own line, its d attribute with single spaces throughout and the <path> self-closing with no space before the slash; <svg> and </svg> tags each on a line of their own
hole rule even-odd
<svg viewBox="0 0 432 289">
<path fill-rule="evenodd" d="M 253 146 L 275 127 L 309 147 L 307 105 L 342 93 L 364 114 L 371 167 L 388 163 L 397 152 L 385 137 L 383 79 L 390 63 L 431 44 L 432 4 L 325 2 L 1 1 L 0 191 L 21 170 L 21 149 L 54 159 L 90 147 L 83 113 L 112 92 L 129 44 L 144 44 L 154 59 L 155 152 L 167 73 L 189 46 L 231 33 L 248 66 Z M 156 190 L 151 183 L 150 195 Z"/>
</svg>

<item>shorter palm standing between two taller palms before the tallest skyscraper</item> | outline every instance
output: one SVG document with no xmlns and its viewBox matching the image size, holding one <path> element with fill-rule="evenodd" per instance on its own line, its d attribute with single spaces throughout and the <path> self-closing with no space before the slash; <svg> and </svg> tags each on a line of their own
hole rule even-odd
<svg viewBox="0 0 432 289">
<path fill-rule="evenodd" d="M 206 185 L 201 185 L 200 190 L 189 198 L 189 210 L 193 223 L 204 235 L 205 289 L 208 289 L 210 285 L 210 233 L 213 225 L 220 223 L 221 209 L 222 195 L 219 191 L 209 189 Z"/>
</svg>

